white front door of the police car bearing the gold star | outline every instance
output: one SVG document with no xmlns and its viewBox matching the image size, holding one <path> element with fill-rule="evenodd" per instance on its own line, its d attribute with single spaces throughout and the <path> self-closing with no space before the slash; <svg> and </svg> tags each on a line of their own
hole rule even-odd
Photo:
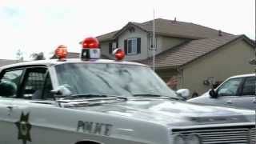
<svg viewBox="0 0 256 144">
<path fill-rule="evenodd" d="M 78 137 L 78 134 L 62 129 L 74 125 L 76 130 L 77 121 L 69 122 L 66 117 L 69 110 L 55 103 L 54 94 L 50 92 L 53 86 L 48 69 L 26 68 L 22 79 L 19 94 L 13 102 L 17 108 L 11 113 L 16 126 L 13 131 L 15 137 L 6 144 L 74 143 L 74 139 L 77 139 L 74 137 Z M 66 125 L 62 126 L 63 123 Z"/>
</svg>

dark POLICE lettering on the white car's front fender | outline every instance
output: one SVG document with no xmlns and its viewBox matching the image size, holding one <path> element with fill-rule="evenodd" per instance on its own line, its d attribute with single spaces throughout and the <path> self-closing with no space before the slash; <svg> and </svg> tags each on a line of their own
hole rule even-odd
<svg viewBox="0 0 256 144">
<path fill-rule="evenodd" d="M 77 131 L 79 132 L 109 136 L 111 134 L 111 130 L 111 124 L 78 121 Z"/>
</svg>

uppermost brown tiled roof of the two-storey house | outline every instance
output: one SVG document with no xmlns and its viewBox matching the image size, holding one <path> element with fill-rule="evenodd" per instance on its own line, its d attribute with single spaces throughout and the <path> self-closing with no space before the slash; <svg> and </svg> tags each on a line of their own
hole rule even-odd
<svg viewBox="0 0 256 144">
<path fill-rule="evenodd" d="M 212 38 L 216 37 L 219 34 L 218 30 L 214 30 L 212 28 L 201 26 L 198 24 L 194 24 L 191 22 L 179 22 L 172 21 L 167 19 L 158 18 L 155 19 L 155 33 L 159 35 L 169 36 L 169 37 L 178 37 L 178 38 L 190 38 L 190 39 L 198 39 L 198 38 Z M 153 20 L 148 22 L 128 22 L 128 24 L 122 27 L 121 30 L 116 30 L 110 32 L 108 34 L 103 34 L 98 36 L 98 40 L 108 41 L 114 38 L 117 38 L 119 34 L 122 34 L 129 26 L 136 26 L 141 30 L 146 31 L 147 33 L 152 32 Z M 222 32 L 223 36 L 232 35 L 225 32 Z"/>
</svg>

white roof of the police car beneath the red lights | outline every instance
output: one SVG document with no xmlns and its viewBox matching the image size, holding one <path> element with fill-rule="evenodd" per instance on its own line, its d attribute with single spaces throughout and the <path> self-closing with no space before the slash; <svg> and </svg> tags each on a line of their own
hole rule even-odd
<svg viewBox="0 0 256 144">
<path fill-rule="evenodd" d="M 58 59 L 50 59 L 50 60 L 20 62 L 20 63 L 2 66 L 1 69 L 4 70 L 4 69 L 9 69 L 12 67 L 20 67 L 20 66 L 54 66 L 54 65 L 59 65 L 63 63 L 113 63 L 113 64 L 146 66 L 137 62 L 114 61 L 109 59 L 94 59 L 94 60 L 83 61 L 82 59 L 79 59 L 79 58 L 70 58 L 70 59 L 65 59 L 64 61 L 60 61 Z"/>
</svg>

